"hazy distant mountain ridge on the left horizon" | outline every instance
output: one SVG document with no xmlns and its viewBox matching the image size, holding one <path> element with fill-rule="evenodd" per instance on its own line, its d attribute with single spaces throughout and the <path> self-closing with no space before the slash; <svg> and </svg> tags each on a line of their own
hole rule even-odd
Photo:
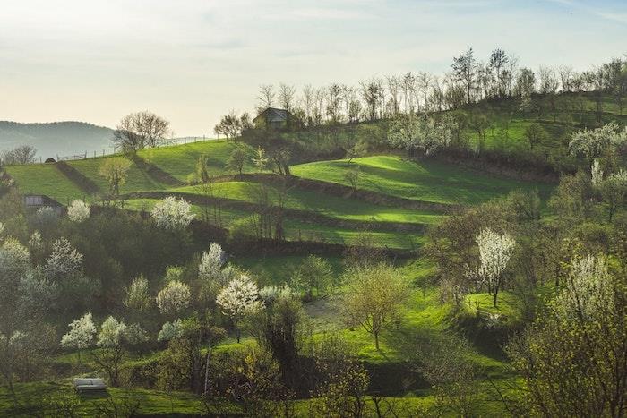
<svg viewBox="0 0 627 418">
<path fill-rule="evenodd" d="M 111 152 L 113 130 L 85 122 L 27 123 L 0 121 L 0 150 L 32 145 L 43 159 L 87 152 Z"/>
</svg>

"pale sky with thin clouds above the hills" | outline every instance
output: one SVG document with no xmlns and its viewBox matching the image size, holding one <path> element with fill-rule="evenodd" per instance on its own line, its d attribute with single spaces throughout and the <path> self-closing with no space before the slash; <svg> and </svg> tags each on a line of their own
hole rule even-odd
<svg viewBox="0 0 627 418">
<path fill-rule="evenodd" d="M 584 70 L 626 39 L 624 0 L 2 0 L 0 120 L 115 127 L 148 109 L 210 136 L 260 84 L 443 73 L 468 47 Z"/>
</svg>

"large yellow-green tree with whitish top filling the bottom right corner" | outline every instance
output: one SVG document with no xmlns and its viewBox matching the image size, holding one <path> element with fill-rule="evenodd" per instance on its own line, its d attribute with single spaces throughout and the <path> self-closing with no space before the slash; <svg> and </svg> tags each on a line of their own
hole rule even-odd
<svg viewBox="0 0 627 418">
<path fill-rule="evenodd" d="M 506 347 L 530 416 L 623 416 L 627 287 L 604 257 L 571 262 L 542 315 Z"/>
</svg>

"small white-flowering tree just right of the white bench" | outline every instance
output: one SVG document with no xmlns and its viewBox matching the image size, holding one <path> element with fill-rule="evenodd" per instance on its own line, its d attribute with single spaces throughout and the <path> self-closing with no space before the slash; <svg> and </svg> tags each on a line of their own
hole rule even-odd
<svg viewBox="0 0 627 418">
<path fill-rule="evenodd" d="M 98 334 L 99 350 L 94 351 L 94 359 L 102 370 L 107 373 L 111 386 L 119 385 L 120 365 L 125 356 L 125 345 L 128 344 L 127 327 L 121 320 L 109 316 L 102 323 Z"/>
</svg>

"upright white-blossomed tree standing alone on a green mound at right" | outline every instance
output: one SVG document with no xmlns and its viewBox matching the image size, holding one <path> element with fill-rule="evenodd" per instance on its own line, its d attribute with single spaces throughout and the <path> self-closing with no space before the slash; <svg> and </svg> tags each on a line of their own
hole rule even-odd
<svg viewBox="0 0 627 418">
<path fill-rule="evenodd" d="M 496 298 L 503 285 L 503 272 L 510 262 L 516 241 L 507 233 L 498 234 L 485 228 L 477 236 L 477 244 L 481 263 L 478 277 L 487 285 L 488 293 L 493 294 L 496 307 Z"/>
</svg>

